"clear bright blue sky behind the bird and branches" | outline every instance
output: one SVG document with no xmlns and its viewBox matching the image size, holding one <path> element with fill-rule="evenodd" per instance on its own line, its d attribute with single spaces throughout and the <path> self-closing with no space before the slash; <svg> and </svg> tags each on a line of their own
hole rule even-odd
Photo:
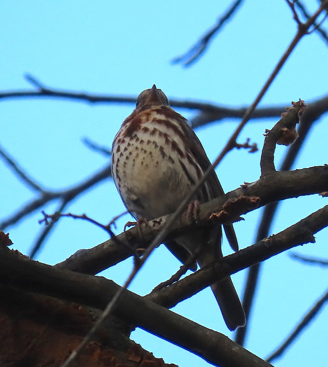
<svg viewBox="0 0 328 367">
<path fill-rule="evenodd" d="M 214 1 L 3 1 L 0 12 L 0 89 L 33 87 L 23 78 L 30 73 L 46 86 L 95 94 L 135 95 L 156 84 L 167 97 L 194 99 L 227 106 L 250 104 L 296 32 L 296 23 L 285 1 L 245 1 L 236 16 L 213 40 L 202 58 L 190 68 L 172 65 L 171 60 L 187 51 L 209 29 L 229 2 Z M 316 10 L 316 1 L 306 1 Z M 324 26 L 326 26 L 324 23 Z M 304 37 L 263 98 L 261 105 L 285 104 L 299 98 L 310 102 L 327 94 L 327 45 L 316 34 Z M 64 99 L 8 99 L 1 101 L 1 146 L 37 182 L 48 189 L 62 189 L 82 181 L 108 163 L 108 159 L 86 148 L 81 139 L 111 146 L 121 122 L 134 106 L 72 102 Z M 179 109 L 191 118 L 196 111 Z M 199 128 L 196 133 L 210 158 L 218 155 L 237 126 L 237 120 Z M 263 145 L 263 132 L 276 119 L 247 124 L 239 141 L 247 137 Z M 315 124 L 301 156 L 293 168 L 327 163 L 327 116 Z M 286 148 L 279 146 L 275 162 Z M 229 153 L 217 169 L 226 191 L 244 181 L 259 178 L 260 153 L 244 150 Z M 0 162 L 1 215 L 15 212 L 34 197 L 12 172 Z M 288 200 L 280 206 L 272 233 L 294 224 L 327 204 L 327 199 L 310 196 Z M 56 210 L 49 204 L 46 212 Z M 69 211 L 86 212 L 107 223 L 124 210 L 114 183 L 107 180 L 75 200 Z M 254 241 L 261 210 L 244 216 L 235 225 L 240 247 Z M 9 228 L 13 248 L 28 253 L 40 233 L 40 212 Z M 121 232 L 128 217 L 118 222 Z M 316 244 L 297 248 L 301 254 L 327 257 L 327 230 L 318 233 Z M 107 239 L 102 230 L 83 221 L 61 220 L 39 261 L 56 264 L 80 248 L 93 247 Z M 224 241 L 224 252 L 229 248 Z M 146 294 L 176 272 L 180 264 L 161 246 L 133 281 L 130 289 Z M 103 272 L 122 284 L 132 261 Z M 242 296 L 246 272 L 233 276 Z M 246 348 L 265 357 L 281 343 L 314 301 L 324 293 L 326 270 L 298 264 L 288 253 L 265 262 Z M 206 312 L 204 312 L 206 304 Z M 220 315 L 209 289 L 176 306 L 180 313 L 204 326 L 233 337 Z M 326 361 L 327 310 L 298 341 L 276 361 L 275 366 L 316 364 Z M 319 336 L 320 335 L 320 336 Z M 156 357 L 180 367 L 207 363 L 191 353 L 137 329 L 132 338 Z"/>
</svg>

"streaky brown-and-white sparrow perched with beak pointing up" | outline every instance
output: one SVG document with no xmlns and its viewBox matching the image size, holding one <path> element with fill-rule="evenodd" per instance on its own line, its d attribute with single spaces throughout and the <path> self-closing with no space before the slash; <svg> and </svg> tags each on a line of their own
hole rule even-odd
<svg viewBox="0 0 328 367">
<path fill-rule="evenodd" d="M 139 95 L 136 109 L 114 138 L 112 172 L 128 211 L 137 219 L 173 213 L 210 166 L 204 148 L 187 120 L 169 107 L 165 94 L 154 85 Z M 194 196 L 204 203 L 224 195 L 214 171 Z M 238 250 L 232 224 L 224 225 L 230 246 Z M 196 228 L 166 243 L 182 262 L 200 252 L 199 266 L 222 257 L 221 225 Z M 191 267 L 193 270 L 196 268 Z M 245 314 L 230 277 L 211 286 L 230 330 L 245 324 Z"/>
</svg>

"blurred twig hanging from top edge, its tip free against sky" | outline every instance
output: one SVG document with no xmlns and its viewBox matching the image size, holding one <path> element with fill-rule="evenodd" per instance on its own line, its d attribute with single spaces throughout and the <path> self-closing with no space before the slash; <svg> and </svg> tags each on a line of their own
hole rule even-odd
<svg viewBox="0 0 328 367">
<path fill-rule="evenodd" d="M 190 66 L 194 63 L 209 46 L 215 34 L 222 29 L 223 25 L 231 19 L 237 8 L 242 3 L 242 0 L 235 0 L 226 12 L 218 19 L 217 23 L 204 36 L 198 40 L 185 54 L 178 56 L 172 60 L 173 64 L 181 62 L 183 66 Z"/>
</svg>

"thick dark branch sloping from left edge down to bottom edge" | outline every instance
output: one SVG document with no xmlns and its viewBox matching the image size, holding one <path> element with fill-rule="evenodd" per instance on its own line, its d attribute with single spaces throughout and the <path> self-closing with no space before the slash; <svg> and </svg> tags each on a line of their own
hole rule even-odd
<svg viewBox="0 0 328 367">
<path fill-rule="evenodd" d="M 7 285 L 103 309 L 120 288 L 111 280 L 41 264 L 0 250 L 0 275 Z M 270 364 L 217 333 L 142 297 L 124 291 L 115 314 L 222 367 Z"/>
</svg>

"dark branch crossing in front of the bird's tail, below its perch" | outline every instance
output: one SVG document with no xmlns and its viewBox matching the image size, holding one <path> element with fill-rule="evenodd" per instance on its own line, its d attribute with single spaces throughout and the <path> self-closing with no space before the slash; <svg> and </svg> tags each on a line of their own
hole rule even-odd
<svg viewBox="0 0 328 367">
<path fill-rule="evenodd" d="M 265 261 L 295 246 L 314 243 L 313 235 L 328 226 L 328 206 L 310 214 L 277 235 L 228 255 L 158 292 L 147 296 L 168 308 L 189 298 L 209 284 L 249 266 Z"/>
</svg>

